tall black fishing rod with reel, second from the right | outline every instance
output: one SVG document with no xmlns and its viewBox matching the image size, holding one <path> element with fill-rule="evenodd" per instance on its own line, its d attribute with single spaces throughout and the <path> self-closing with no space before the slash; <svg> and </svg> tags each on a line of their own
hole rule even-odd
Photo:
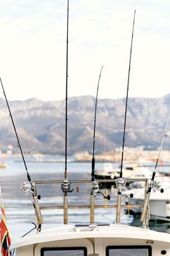
<svg viewBox="0 0 170 256">
<path fill-rule="evenodd" d="M 134 21 L 133 21 L 133 29 L 132 29 L 132 35 L 131 35 L 131 51 L 130 51 L 130 58 L 129 58 L 129 64 L 128 64 L 128 85 L 127 85 L 126 98 L 125 98 L 125 118 L 124 118 L 124 128 L 123 128 L 123 146 L 122 146 L 122 157 L 121 157 L 121 165 L 120 165 L 120 177 L 117 178 L 117 181 L 116 181 L 117 188 L 118 188 L 117 214 L 116 214 L 117 222 L 120 222 L 121 195 L 122 195 L 122 191 L 125 190 L 125 183 L 126 183 L 125 179 L 123 178 L 123 156 L 124 156 L 124 147 L 125 147 L 125 127 L 126 127 L 126 116 L 127 116 L 127 109 L 128 109 L 128 87 L 129 87 L 130 72 L 131 72 L 131 53 L 132 53 L 133 38 L 134 38 L 135 15 L 136 15 L 136 10 L 134 10 Z"/>
</svg>

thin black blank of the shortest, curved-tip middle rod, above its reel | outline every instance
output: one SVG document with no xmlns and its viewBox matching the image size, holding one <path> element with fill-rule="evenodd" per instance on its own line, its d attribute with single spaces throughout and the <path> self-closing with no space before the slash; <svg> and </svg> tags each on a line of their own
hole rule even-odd
<svg viewBox="0 0 170 256">
<path fill-rule="evenodd" d="M 101 67 L 101 72 L 102 72 L 103 66 Z M 97 113 L 97 101 L 98 101 L 98 88 L 99 88 L 99 83 L 101 79 L 101 72 L 98 77 L 98 85 L 97 85 L 97 92 L 96 92 L 96 104 L 95 104 L 95 111 L 94 111 L 94 127 L 93 127 L 93 157 L 91 161 L 91 181 L 94 181 L 94 169 L 95 169 L 95 143 L 96 143 L 96 113 Z"/>
</svg>

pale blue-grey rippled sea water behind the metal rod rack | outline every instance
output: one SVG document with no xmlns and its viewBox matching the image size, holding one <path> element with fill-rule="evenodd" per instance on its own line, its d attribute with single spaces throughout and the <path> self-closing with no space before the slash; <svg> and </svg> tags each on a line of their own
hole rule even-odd
<svg viewBox="0 0 170 256">
<path fill-rule="evenodd" d="M 48 157 L 43 159 L 26 158 L 28 173 L 32 181 L 41 180 L 63 180 L 64 162 L 63 157 Z M 58 161 L 58 162 L 57 162 Z M 103 163 L 96 163 L 96 168 L 102 169 Z M 67 164 L 69 179 L 90 179 L 90 162 L 72 162 L 69 158 Z M 25 195 L 20 189 L 23 181 L 27 181 L 26 169 L 20 158 L 7 158 L 7 168 L 0 169 L 0 183 L 2 199 L 7 218 L 7 226 L 12 241 L 24 236 L 29 230 L 34 229 L 35 217 L 34 207 L 31 203 L 31 193 Z M 78 186 L 78 188 L 77 188 Z M 69 193 L 69 205 L 89 205 L 90 187 L 89 184 L 72 184 L 73 192 Z M 111 196 L 107 204 L 116 202 L 117 192 L 114 187 L 102 188 L 101 192 Z M 62 206 L 63 192 L 61 185 L 39 185 L 38 195 L 41 195 L 39 204 L 42 206 Z M 104 204 L 102 195 L 96 196 L 96 204 Z M 48 227 L 58 227 L 63 223 L 63 210 L 42 210 L 44 224 L 42 230 Z M 69 224 L 89 222 L 89 209 L 69 209 Z M 115 209 L 95 209 L 95 222 L 115 223 Z M 126 225 L 142 225 L 139 217 L 132 217 L 121 211 L 121 223 Z M 150 222 L 151 228 L 158 231 L 169 232 L 170 222 Z M 31 233 L 36 233 L 35 230 Z"/>
</svg>

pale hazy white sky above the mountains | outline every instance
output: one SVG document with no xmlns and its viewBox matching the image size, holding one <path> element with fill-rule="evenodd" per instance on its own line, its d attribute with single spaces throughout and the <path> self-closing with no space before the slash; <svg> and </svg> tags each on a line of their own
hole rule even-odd
<svg viewBox="0 0 170 256">
<path fill-rule="evenodd" d="M 0 0 L 0 76 L 9 99 L 64 99 L 66 0 Z M 170 93 L 169 0 L 70 0 L 69 97 Z M 0 94 L 3 97 L 3 94 Z"/>
</svg>

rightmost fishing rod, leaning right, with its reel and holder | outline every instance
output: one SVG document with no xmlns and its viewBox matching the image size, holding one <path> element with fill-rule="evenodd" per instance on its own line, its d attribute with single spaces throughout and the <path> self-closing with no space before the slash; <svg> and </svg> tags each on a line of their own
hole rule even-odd
<svg viewBox="0 0 170 256">
<path fill-rule="evenodd" d="M 161 147 L 158 151 L 158 158 L 156 159 L 156 162 L 155 162 L 155 168 L 154 168 L 153 173 L 152 173 L 152 178 L 151 178 L 151 181 L 150 181 L 149 189 L 146 192 L 146 197 L 145 197 L 145 201 L 144 201 L 144 208 L 143 208 L 142 215 L 141 215 L 141 222 L 144 222 L 144 219 L 145 219 L 145 216 L 146 216 L 146 213 L 147 213 L 147 208 L 148 208 L 149 201 L 150 201 L 150 193 L 151 193 L 152 189 L 159 189 L 159 187 L 155 187 L 154 181 L 155 181 L 155 175 L 156 175 L 156 172 L 157 172 L 158 162 L 159 162 L 159 159 L 160 159 L 160 156 L 161 156 L 161 151 L 162 151 L 162 148 L 163 148 L 163 142 L 164 142 L 165 138 L 168 137 L 168 130 L 167 129 L 169 127 L 169 121 L 170 121 L 170 113 L 169 113 L 169 118 L 166 122 L 165 131 L 163 132 Z"/>
</svg>

